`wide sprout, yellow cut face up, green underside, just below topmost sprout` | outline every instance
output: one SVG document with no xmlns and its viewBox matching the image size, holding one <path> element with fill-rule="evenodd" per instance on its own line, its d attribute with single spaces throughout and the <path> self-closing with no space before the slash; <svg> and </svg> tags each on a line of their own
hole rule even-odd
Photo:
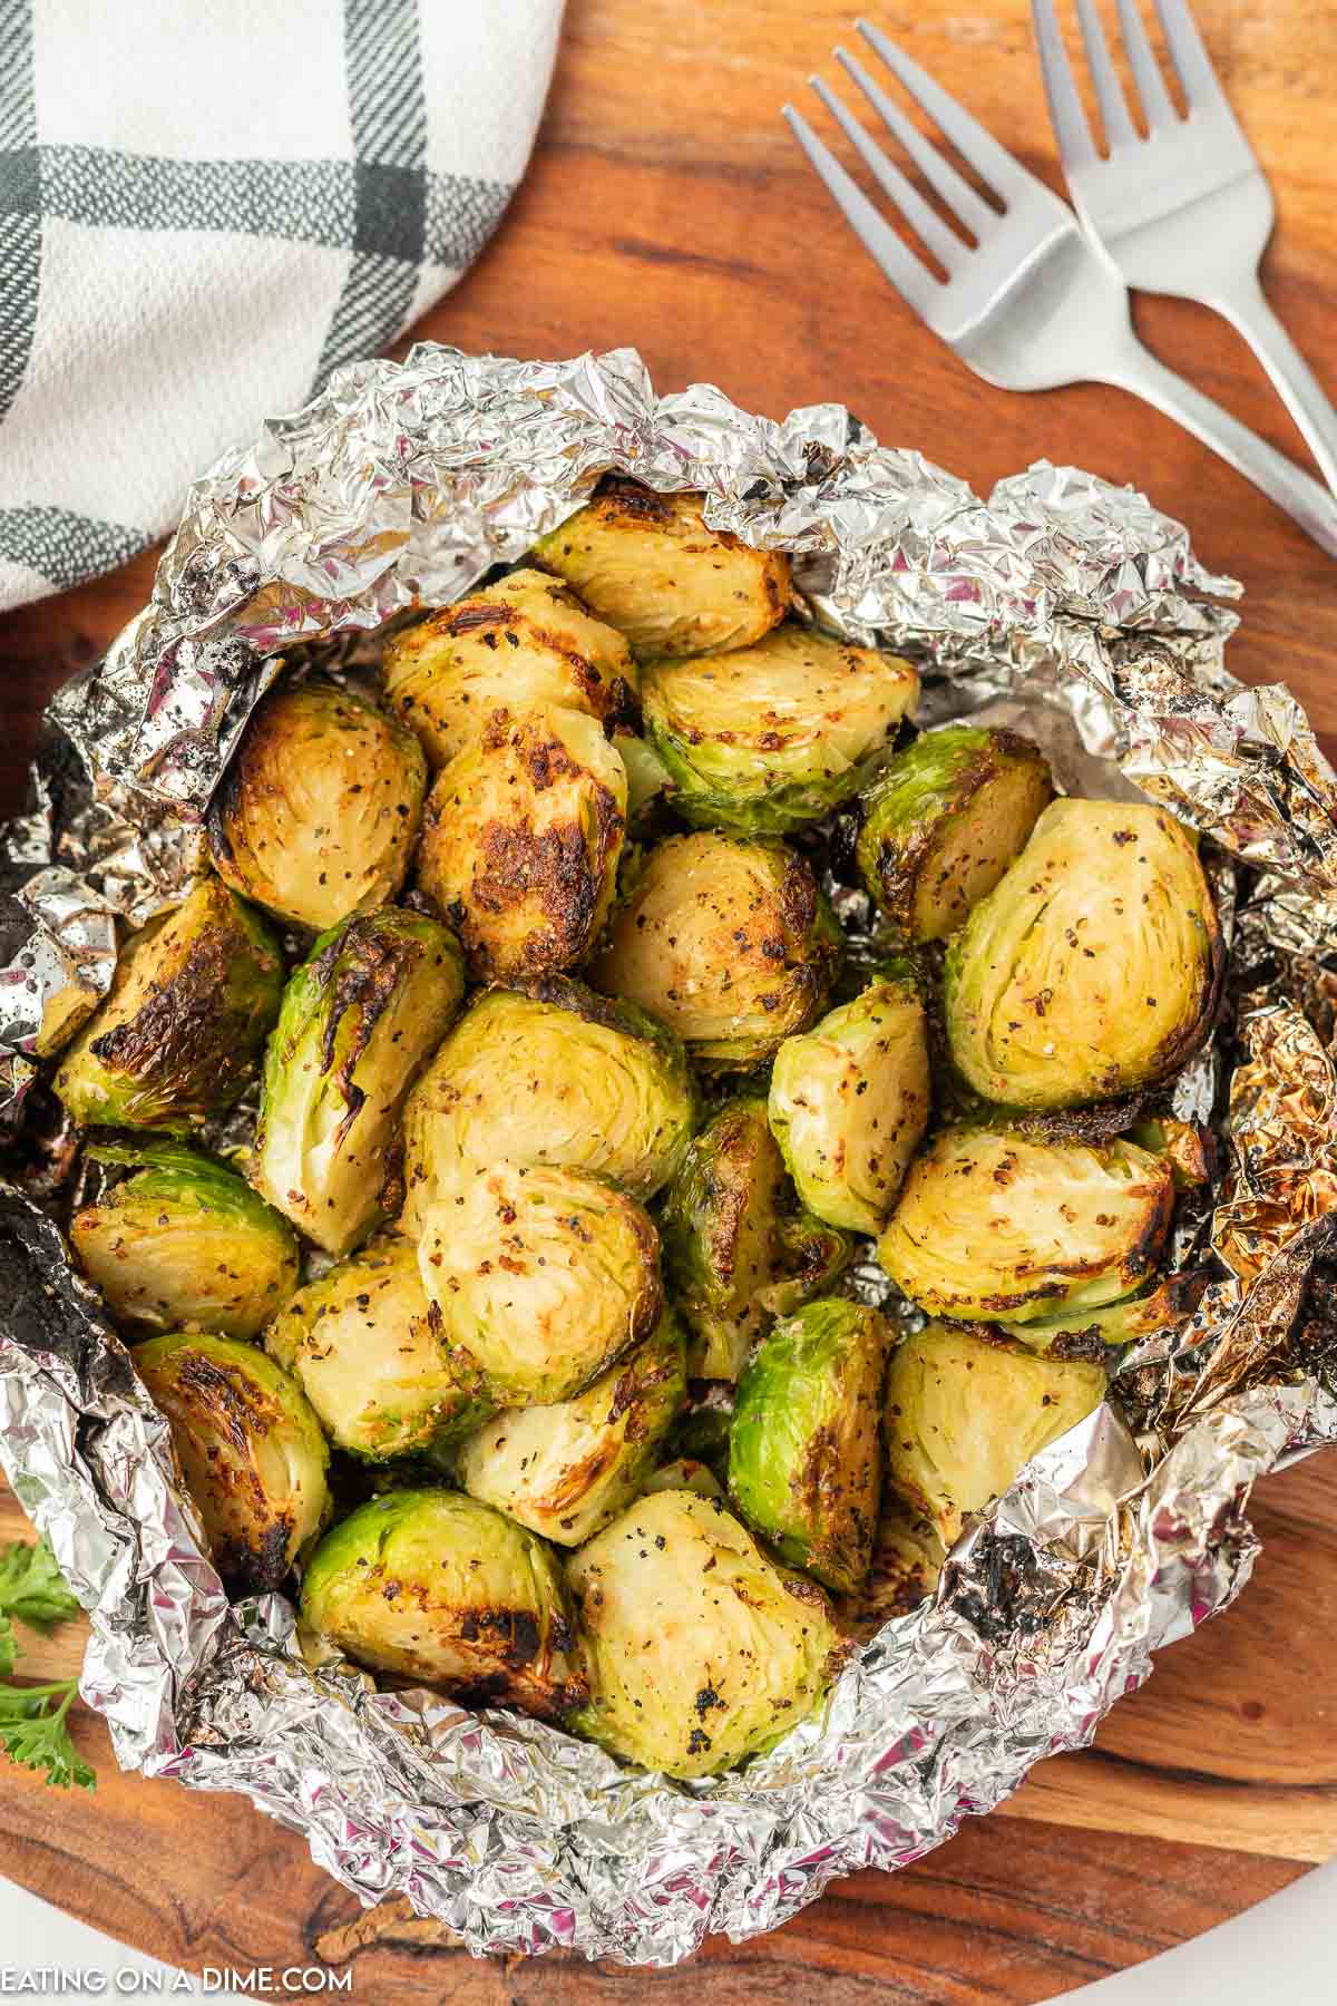
<svg viewBox="0 0 1337 2006">
<path fill-rule="evenodd" d="M 818 628 L 645 666 L 645 730 L 698 828 L 784 837 L 838 808 L 890 758 L 918 696 L 910 662 Z"/>
</svg>

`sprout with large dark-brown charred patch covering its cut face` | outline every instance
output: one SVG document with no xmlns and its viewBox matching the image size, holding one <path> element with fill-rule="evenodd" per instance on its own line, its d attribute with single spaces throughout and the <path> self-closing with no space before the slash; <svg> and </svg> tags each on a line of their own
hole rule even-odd
<svg viewBox="0 0 1337 2006">
<path fill-rule="evenodd" d="M 627 770 L 579 710 L 493 710 L 437 774 L 417 881 L 479 981 L 581 961 L 607 915 Z"/>
</svg>

